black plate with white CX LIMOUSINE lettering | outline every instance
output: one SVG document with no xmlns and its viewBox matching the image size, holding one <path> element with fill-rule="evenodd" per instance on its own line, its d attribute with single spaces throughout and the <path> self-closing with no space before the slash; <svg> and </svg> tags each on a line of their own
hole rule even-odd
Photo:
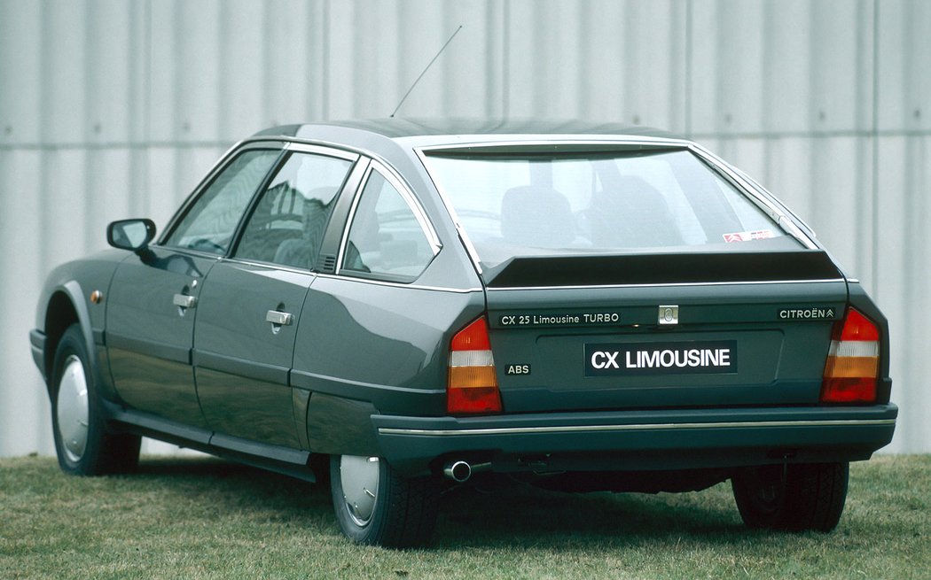
<svg viewBox="0 0 931 580">
<path fill-rule="evenodd" d="M 733 375 L 737 341 L 587 344 L 586 376 Z"/>
</svg>

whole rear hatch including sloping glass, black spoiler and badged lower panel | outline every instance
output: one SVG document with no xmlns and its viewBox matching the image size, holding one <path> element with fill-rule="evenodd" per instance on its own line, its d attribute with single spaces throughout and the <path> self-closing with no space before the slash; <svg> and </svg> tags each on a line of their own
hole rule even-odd
<svg viewBox="0 0 931 580">
<path fill-rule="evenodd" d="M 486 288 L 506 413 L 818 401 L 843 275 L 719 160 L 624 138 L 424 159 Z"/>
</svg>

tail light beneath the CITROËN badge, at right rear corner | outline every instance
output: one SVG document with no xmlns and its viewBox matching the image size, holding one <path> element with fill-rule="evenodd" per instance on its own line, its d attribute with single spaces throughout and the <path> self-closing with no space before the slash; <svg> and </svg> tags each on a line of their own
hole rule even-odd
<svg viewBox="0 0 931 580">
<path fill-rule="evenodd" d="M 821 402 L 874 402 L 879 328 L 855 309 L 834 325 L 821 383 Z"/>
</svg>

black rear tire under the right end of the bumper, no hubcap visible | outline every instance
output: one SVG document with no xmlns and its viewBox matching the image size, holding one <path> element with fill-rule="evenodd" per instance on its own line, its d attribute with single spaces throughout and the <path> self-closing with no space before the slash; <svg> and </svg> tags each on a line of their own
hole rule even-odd
<svg viewBox="0 0 931 580">
<path fill-rule="evenodd" d="M 731 479 L 740 517 L 751 528 L 830 532 L 847 497 L 848 463 L 746 468 Z"/>
</svg>

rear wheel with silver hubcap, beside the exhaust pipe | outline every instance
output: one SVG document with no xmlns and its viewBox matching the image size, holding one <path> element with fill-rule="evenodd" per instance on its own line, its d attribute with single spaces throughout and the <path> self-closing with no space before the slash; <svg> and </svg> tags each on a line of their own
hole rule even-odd
<svg viewBox="0 0 931 580">
<path fill-rule="evenodd" d="M 379 457 L 332 455 L 330 489 L 340 528 L 358 544 L 417 547 L 433 534 L 435 478 L 402 477 Z"/>
</svg>

